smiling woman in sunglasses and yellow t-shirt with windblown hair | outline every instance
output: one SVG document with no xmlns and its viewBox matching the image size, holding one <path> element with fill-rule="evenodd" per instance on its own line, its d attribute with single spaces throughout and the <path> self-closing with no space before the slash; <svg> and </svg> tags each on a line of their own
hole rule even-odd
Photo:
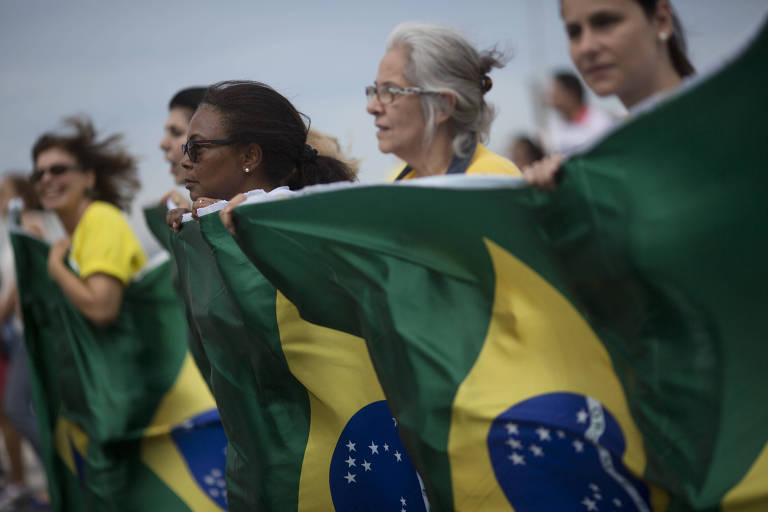
<svg viewBox="0 0 768 512">
<path fill-rule="evenodd" d="M 87 119 L 66 124 L 72 134 L 46 133 L 32 149 L 35 192 L 68 235 L 51 247 L 48 271 L 83 316 L 107 326 L 120 311 L 125 286 L 146 261 L 121 211 L 139 188 L 136 163 L 119 145 L 119 135 L 98 140 Z M 75 272 L 64 261 L 70 246 Z"/>
</svg>

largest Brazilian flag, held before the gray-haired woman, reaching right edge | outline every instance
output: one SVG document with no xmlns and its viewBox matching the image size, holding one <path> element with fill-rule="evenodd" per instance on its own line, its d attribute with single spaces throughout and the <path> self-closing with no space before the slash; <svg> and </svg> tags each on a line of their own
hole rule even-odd
<svg viewBox="0 0 768 512">
<path fill-rule="evenodd" d="M 768 510 L 766 62 L 764 29 L 553 194 L 318 187 L 238 243 L 366 340 L 436 510 Z"/>
</svg>

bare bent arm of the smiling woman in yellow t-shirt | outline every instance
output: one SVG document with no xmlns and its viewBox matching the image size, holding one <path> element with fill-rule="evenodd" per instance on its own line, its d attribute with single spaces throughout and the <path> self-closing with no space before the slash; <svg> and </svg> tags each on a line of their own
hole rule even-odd
<svg viewBox="0 0 768 512">
<path fill-rule="evenodd" d="M 64 239 L 51 247 L 48 273 L 83 316 L 99 327 L 106 327 L 115 321 L 120 312 L 123 283 L 107 274 L 93 274 L 80 279 L 64 264 L 69 244 L 70 240 Z"/>
</svg>

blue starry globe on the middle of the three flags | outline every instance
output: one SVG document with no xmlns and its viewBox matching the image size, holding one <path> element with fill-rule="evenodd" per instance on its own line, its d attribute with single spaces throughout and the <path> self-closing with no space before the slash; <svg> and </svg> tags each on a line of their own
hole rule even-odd
<svg viewBox="0 0 768 512">
<path fill-rule="evenodd" d="M 421 482 L 384 400 L 360 409 L 344 427 L 329 478 L 338 512 L 426 510 Z"/>
</svg>

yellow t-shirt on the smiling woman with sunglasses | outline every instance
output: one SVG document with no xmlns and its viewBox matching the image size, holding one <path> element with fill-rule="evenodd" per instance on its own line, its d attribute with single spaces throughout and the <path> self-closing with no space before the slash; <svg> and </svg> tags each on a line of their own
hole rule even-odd
<svg viewBox="0 0 768 512">
<path fill-rule="evenodd" d="M 114 276 L 128 284 L 147 261 L 144 249 L 119 208 L 94 201 L 72 234 L 71 257 L 81 279 Z"/>
</svg>

